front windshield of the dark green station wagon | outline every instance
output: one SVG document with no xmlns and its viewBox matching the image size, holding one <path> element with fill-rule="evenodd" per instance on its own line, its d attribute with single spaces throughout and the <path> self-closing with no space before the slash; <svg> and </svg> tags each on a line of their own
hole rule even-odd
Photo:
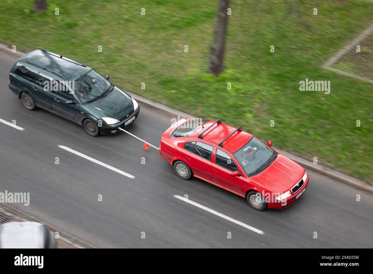
<svg viewBox="0 0 373 274">
<path fill-rule="evenodd" d="M 112 85 L 93 69 L 75 80 L 75 94 L 82 103 L 95 101 L 110 91 Z"/>
</svg>

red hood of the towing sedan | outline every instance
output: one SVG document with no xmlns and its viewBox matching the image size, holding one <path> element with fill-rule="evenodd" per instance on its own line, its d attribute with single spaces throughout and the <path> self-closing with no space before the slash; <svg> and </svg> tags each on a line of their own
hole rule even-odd
<svg viewBox="0 0 373 274">
<path fill-rule="evenodd" d="M 285 193 L 302 179 L 304 171 L 303 167 L 294 161 L 278 154 L 269 167 L 251 179 L 273 192 Z"/>
</svg>

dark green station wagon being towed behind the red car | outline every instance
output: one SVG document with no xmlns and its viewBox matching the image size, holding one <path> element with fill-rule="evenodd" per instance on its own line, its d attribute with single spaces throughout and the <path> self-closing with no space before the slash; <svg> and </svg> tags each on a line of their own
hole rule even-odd
<svg viewBox="0 0 373 274">
<path fill-rule="evenodd" d="M 43 108 L 97 136 L 128 127 L 140 112 L 134 98 L 108 80 L 84 64 L 37 49 L 10 70 L 9 88 L 28 110 Z"/>
</svg>

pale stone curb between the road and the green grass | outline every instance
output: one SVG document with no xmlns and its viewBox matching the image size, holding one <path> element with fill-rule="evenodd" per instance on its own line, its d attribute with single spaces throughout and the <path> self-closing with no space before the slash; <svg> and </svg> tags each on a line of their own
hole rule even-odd
<svg viewBox="0 0 373 274">
<path fill-rule="evenodd" d="M 373 25 L 372 25 L 373 26 Z M 370 27 L 371 28 L 371 27 Z M 16 56 L 22 56 L 23 52 L 12 52 L 12 50 L 5 44 L 0 43 L 0 50 L 11 53 Z M 128 91 L 127 91 L 128 92 Z M 134 94 L 132 92 L 128 92 L 129 95 L 131 95 L 133 98 L 135 98 L 138 103 L 143 104 L 147 107 L 150 107 L 154 110 L 160 111 L 164 114 L 167 114 L 169 116 L 180 116 L 180 117 L 194 117 L 188 113 L 176 110 L 174 108 L 167 107 L 166 105 L 156 103 L 154 101 L 151 101 L 145 97 L 142 97 L 138 94 Z M 354 177 L 348 176 L 344 173 L 341 173 L 339 171 L 335 171 L 333 169 L 330 169 L 328 167 L 320 166 L 318 164 L 314 164 L 310 161 L 305 160 L 304 158 L 298 157 L 294 154 L 291 154 L 286 151 L 282 151 L 280 149 L 275 148 L 276 151 L 280 152 L 281 154 L 285 155 L 286 157 L 290 158 L 291 160 L 295 161 L 296 163 L 300 164 L 302 167 L 315 171 L 317 173 L 320 173 L 322 175 L 325 175 L 327 177 L 330 177 L 332 179 L 338 180 L 339 182 L 345 183 L 347 185 L 353 186 L 355 188 L 373 193 L 373 185 L 370 185 L 369 183 L 366 183 L 362 180 L 356 179 Z"/>
</svg>

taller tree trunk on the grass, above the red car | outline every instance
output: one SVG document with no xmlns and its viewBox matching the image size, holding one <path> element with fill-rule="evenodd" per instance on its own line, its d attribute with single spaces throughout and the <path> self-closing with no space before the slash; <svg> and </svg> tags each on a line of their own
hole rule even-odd
<svg viewBox="0 0 373 274">
<path fill-rule="evenodd" d="M 216 25 L 214 29 L 214 41 L 211 44 L 211 56 L 209 64 L 209 73 L 216 76 L 223 71 L 225 35 L 228 25 L 229 0 L 219 0 L 217 10 Z"/>
</svg>

